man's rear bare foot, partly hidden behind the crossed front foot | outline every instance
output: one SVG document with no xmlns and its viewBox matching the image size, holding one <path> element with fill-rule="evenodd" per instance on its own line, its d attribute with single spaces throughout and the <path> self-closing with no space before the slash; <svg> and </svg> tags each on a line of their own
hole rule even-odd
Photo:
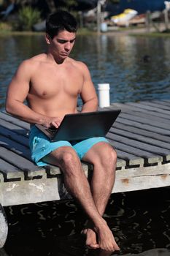
<svg viewBox="0 0 170 256">
<path fill-rule="evenodd" d="M 89 249 L 98 249 L 99 245 L 96 241 L 96 233 L 91 228 L 82 230 L 82 234 L 86 236 L 85 244 Z"/>
</svg>

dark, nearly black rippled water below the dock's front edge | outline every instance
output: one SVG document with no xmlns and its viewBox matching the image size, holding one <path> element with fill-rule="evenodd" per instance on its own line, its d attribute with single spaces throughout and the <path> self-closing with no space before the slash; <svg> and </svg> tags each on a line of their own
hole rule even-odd
<svg viewBox="0 0 170 256">
<path fill-rule="evenodd" d="M 166 188 L 113 194 L 104 218 L 121 250 L 111 255 L 153 256 L 156 252 L 153 249 L 158 248 L 162 248 L 160 255 L 169 252 L 169 203 Z M 4 247 L 7 255 L 100 256 L 105 253 L 85 247 L 85 238 L 80 233 L 86 217 L 73 200 L 11 206 L 5 210 L 9 220 L 9 236 Z"/>
</svg>

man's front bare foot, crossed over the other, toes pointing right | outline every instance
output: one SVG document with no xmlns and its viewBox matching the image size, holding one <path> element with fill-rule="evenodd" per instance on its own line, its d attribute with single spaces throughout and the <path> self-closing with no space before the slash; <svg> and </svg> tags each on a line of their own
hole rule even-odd
<svg viewBox="0 0 170 256">
<path fill-rule="evenodd" d="M 120 250 L 112 231 L 109 229 L 107 222 L 105 222 L 104 219 L 100 225 L 94 227 L 94 230 L 98 234 L 98 245 L 102 250 L 107 252 Z"/>
</svg>

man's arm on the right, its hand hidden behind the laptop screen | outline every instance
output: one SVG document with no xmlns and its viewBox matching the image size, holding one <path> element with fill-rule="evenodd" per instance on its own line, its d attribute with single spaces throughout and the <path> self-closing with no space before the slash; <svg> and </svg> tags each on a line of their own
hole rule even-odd
<svg viewBox="0 0 170 256">
<path fill-rule="evenodd" d="M 82 72 L 84 75 L 84 83 L 80 96 L 82 98 L 82 112 L 96 111 L 98 108 L 98 97 L 90 77 L 90 72 L 85 64 L 82 64 Z"/>
</svg>

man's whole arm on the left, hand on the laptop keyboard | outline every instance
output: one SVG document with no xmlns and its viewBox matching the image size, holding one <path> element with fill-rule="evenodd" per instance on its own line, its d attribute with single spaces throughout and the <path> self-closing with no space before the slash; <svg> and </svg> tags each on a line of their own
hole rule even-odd
<svg viewBox="0 0 170 256">
<path fill-rule="evenodd" d="M 28 123 L 43 124 L 49 127 L 53 123 L 53 118 L 36 113 L 23 103 L 28 96 L 31 74 L 34 72 L 33 66 L 30 60 L 26 60 L 18 67 L 7 90 L 6 110 L 7 113 Z"/>
</svg>

